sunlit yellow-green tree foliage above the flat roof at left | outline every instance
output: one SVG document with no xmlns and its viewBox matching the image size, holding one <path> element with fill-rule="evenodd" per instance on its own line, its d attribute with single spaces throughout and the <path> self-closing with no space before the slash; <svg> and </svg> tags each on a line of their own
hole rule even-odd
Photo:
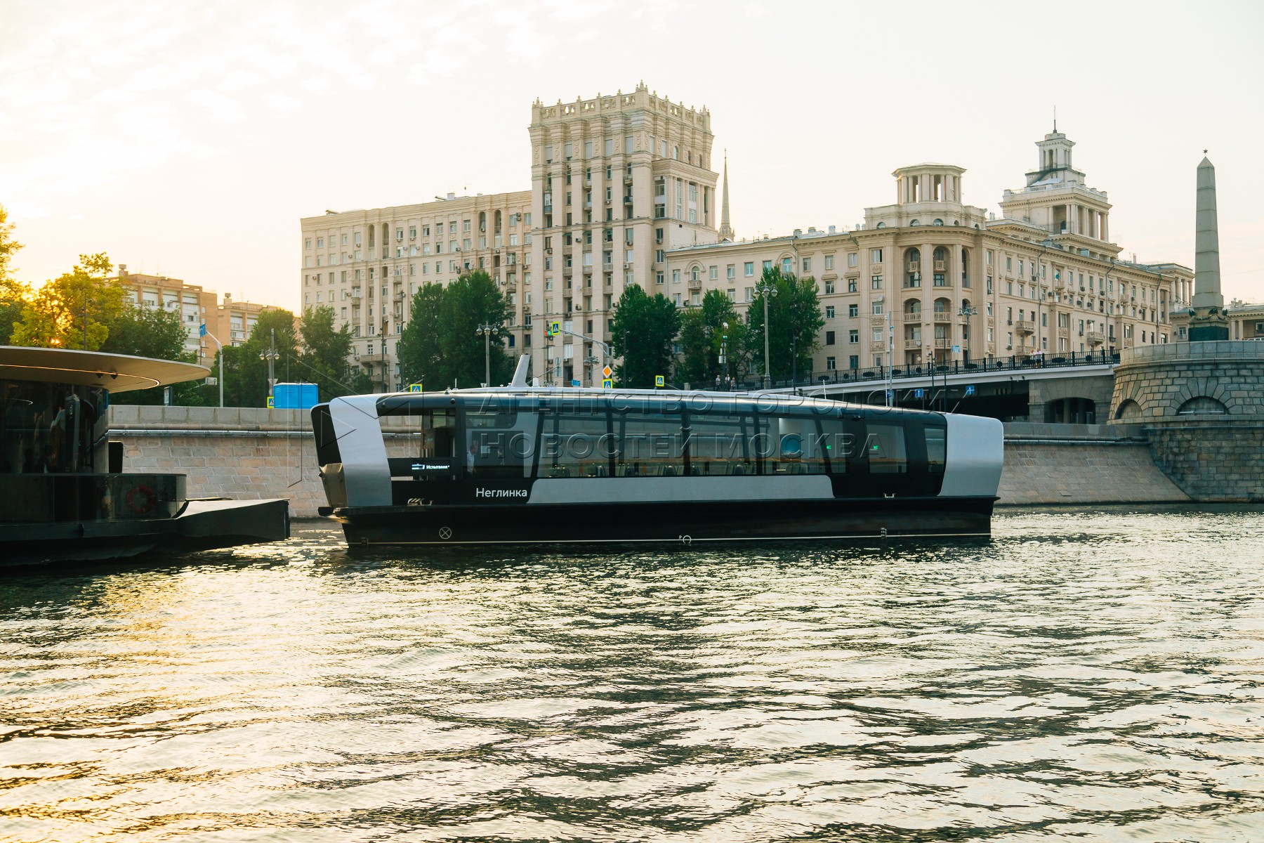
<svg viewBox="0 0 1264 843">
<path fill-rule="evenodd" d="M 126 307 L 123 284 L 105 279 L 111 265 L 105 253 L 81 254 L 73 269 L 47 282 L 27 300 L 11 343 L 99 350 L 109 336 L 109 325 Z"/>
</svg>

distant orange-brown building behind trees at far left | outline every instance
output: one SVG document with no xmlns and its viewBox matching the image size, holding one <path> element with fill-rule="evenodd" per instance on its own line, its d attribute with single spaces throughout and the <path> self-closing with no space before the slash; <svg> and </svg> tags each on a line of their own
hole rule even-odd
<svg viewBox="0 0 1264 843">
<path fill-rule="evenodd" d="M 224 293 L 224 302 L 220 303 L 215 292 L 202 289 L 198 284 L 166 276 L 128 272 L 125 263 L 119 264 L 119 274 L 109 281 L 121 282 L 131 302 L 139 307 L 179 312 L 186 334 L 185 351 L 197 355 L 197 363 L 207 367 L 215 360 L 216 345 L 215 340 L 201 336 L 204 322 L 206 331 L 224 345 L 241 345 L 250 336 L 259 313 L 277 310 L 272 305 L 234 302 L 229 293 Z"/>
</svg>

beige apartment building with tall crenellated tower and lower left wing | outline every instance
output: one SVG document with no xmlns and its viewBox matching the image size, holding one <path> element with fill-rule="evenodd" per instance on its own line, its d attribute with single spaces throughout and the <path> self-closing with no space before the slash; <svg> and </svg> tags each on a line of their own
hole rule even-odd
<svg viewBox="0 0 1264 843">
<path fill-rule="evenodd" d="M 530 191 L 301 220 L 303 307 L 329 305 L 351 326 L 356 361 L 378 388 L 402 385 L 397 344 L 417 288 L 474 269 L 502 284 L 506 346 L 532 355 L 533 377 L 593 383 L 624 287 L 666 289 L 670 249 L 717 240 L 707 110 L 642 83 L 570 104 L 537 100 L 530 136 Z M 552 321 L 564 332 L 546 337 Z"/>
</svg>

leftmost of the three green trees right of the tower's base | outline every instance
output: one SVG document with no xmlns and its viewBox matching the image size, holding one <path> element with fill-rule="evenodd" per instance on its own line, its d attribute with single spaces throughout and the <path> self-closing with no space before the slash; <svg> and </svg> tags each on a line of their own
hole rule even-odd
<svg viewBox="0 0 1264 843">
<path fill-rule="evenodd" d="M 619 385 L 648 388 L 655 375 L 666 375 L 679 332 L 680 311 L 666 296 L 651 298 L 640 284 L 624 288 L 611 317 L 614 353 L 623 354 L 623 361 L 614 367 Z"/>
</svg>

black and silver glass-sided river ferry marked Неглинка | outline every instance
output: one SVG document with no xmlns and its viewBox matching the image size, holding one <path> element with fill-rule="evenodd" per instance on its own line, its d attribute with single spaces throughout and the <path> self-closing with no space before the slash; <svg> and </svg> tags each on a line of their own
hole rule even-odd
<svg viewBox="0 0 1264 843">
<path fill-rule="evenodd" d="M 775 393 L 501 388 L 312 409 L 348 543 L 986 536 L 992 418 Z"/>
</svg>

